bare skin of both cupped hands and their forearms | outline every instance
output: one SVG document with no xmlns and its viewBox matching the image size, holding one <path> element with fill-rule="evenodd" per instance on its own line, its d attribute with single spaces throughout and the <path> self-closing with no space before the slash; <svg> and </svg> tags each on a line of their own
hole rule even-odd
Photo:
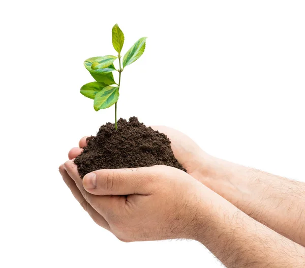
<svg viewBox="0 0 305 268">
<path fill-rule="evenodd" d="M 97 170 L 81 180 L 73 161 L 59 167 L 97 224 L 124 242 L 194 239 L 227 267 L 305 267 L 304 184 L 217 159 L 181 132 L 153 128 L 170 138 L 188 174 L 154 166 Z"/>
</svg>

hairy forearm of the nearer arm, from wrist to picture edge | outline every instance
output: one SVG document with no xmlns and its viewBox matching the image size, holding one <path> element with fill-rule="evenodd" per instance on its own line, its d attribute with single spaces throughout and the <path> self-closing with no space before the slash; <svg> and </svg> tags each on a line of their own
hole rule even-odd
<svg viewBox="0 0 305 268">
<path fill-rule="evenodd" d="M 226 267 L 305 267 L 305 248 L 255 221 L 217 194 L 205 193 L 195 240 Z M 207 212 L 208 211 L 208 212 Z"/>
</svg>

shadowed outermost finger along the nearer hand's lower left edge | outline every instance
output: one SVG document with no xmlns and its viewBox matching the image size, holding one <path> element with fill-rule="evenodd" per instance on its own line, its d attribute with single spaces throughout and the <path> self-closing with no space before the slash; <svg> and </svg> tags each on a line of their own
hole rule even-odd
<svg viewBox="0 0 305 268">
<path fill-rule="evenodd" d="M 80 205 L 83 207 L 83 209 L 89 214 L 89 216 L 101 227 L 109 230 L 109 224 L 107 221 L 100 215 L 96 210 L 93 209 L 93 207 L 85 200 L 79 189 L 77 188 L 75 182 L 72 180 L 72 178 L 69 176 L 67 171 L 65 170 L 64 166 L 61 165 L 59 167 L 59 172 L 63 176 L 63 180 L 66 183 L 66 185 L 70 188 L 73 196 L 75 199 L 80 203 Z"/>
</svg>

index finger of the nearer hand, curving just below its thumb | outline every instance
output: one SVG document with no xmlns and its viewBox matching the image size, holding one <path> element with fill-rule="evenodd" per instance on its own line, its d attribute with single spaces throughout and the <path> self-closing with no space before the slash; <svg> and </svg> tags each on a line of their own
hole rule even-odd
<svg viewBox="0 0 305 268">
<path fill-rule="evenodd" d="M 115 213 L 118 211 L 125 203 L 126 197 L 125 196 L 98 196 L 91 193 L 88 193 L 82 183 L 82 179 L 80 178 L 77 172 L 77 166 L 73 163 L 72 160 L 65 162 L 64 167 L 75 182 L 77 188 L 85 198 L 85 200 L 102 216 L 107 216 L 109 213 Z"/>
</svg>

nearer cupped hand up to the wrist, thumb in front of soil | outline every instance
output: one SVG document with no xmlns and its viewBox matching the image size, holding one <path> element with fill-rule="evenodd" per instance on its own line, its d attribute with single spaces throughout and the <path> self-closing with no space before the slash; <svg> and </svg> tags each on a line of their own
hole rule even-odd
<svg viewBox="0 0 305 268">
<path fill-rule="evenodd" d="M 204 186 L 184 171 L 168 166 L 103 169 L 81 180 L 73 161 L 59 171 L 93 220 L 121 241 L 194 238 Z"/>
</svg>

